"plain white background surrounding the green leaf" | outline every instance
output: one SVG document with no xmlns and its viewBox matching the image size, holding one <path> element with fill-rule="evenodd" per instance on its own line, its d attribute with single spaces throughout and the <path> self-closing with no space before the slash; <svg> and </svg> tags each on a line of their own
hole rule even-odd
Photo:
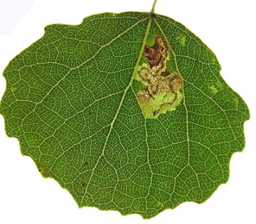
<svg viewBox="0 0 256 224">
<path fill-rule="evenodd" d="M 153 0 L 18 1 L 24 4 L 23 8 L 17 0 L 0 0 L 0 73 L 10 59 L 42 37 L 48 24 L 78 24 L 85 16 L 106 11 L 150 11 Z M 201 205 L 185 202 L 150 220 L 143 220 L 139 215 L 122 216 L 97 208 L 78 208 L 67 190 L 61 189 L 53 179 L 44 179 L 32 159 L 21 155 L 18 141 L 6 137 L 3 116 L 0 116 L 0 223 L 255 224 L 255 2 L 158 0 L 156 7 L 158 14 L 182 22 L 214 51 L 222 65 L 222 77 L 244 98 L 251 111 L 251 119 L 245 123 L 246 148 L 234 154 L 229 181 L 207 202 Z M 0 76 L 0 96 L 4 89 L 5 80 Z"/>
</svg>

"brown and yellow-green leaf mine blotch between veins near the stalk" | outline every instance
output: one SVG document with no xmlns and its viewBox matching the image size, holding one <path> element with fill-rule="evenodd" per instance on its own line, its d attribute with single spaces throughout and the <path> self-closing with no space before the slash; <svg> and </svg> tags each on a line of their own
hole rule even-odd
<svg viewBox="0 0 256 224">
<path fill-rule="evenodd" d="M 168 72 L 169 47 L 163 35 L 157 35 L 152 47 L 145 45 L 143 64 L 135 79 L 145 88 L 138 90 L 138 103 L 145 118 L 156 119 L 167 111 L 176 109 L 182 101 L 182 78 L 177 72 Z"/>
</svg>

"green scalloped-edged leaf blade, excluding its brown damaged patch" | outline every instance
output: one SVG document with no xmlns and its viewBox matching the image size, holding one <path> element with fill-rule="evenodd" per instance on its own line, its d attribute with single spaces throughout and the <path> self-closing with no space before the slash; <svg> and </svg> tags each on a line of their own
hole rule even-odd
<svg viewBox="0 0 256 224">
<path fill-rule="evenodd" d="M 145 106 L 139 91 L 153 89 L 153 79 L 142 80 L 144 51 L 157 36 L 168 47 L 164 71 L 181 82 Z M 214 53 L 179 22 L 104 13 L 49 25 L 12 59 L 0 112 L 22 154 L 79 207 L 149 219 L 182 202 L 205 202 L 245 146 L 249 111 L 220 71 Z M 159 80 L 158 87 L 167 79 Z"/>
</svg>

